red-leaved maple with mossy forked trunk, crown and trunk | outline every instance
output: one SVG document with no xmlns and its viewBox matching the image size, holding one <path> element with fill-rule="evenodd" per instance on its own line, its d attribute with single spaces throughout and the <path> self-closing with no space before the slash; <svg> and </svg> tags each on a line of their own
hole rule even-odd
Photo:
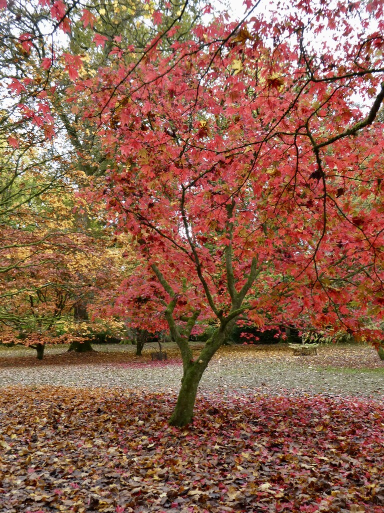
<svg viewBox="0 0 384 513">
<path fill-rule="evenodd" d="M 70 91 L 113 156 L 92 194 L 134 235 L 141 295 L 180 348 L 177 426 L 239 320 L 381 338 L 383 2 L 258 4 L 165 55 L 159 34 Z M 134 286 L 120 299 L 132 318 Z M 194 360 L 189 336 L 212 316 Z"/>
</svg>

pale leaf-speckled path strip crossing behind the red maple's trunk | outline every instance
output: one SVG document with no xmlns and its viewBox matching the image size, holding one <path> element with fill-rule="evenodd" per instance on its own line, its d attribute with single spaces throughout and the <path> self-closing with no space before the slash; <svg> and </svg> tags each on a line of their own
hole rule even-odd
<svg viewBox="0 0 384 513">
<path fill-rule="evenodd" d="M 119 363 L 124 357 L 132 359 L 132 346 L 94 346 L 100 351 L 95 354 L 101 362 L 79 363 L 84 355 L 61 354 L 63 348 L 52 347 L 46 351 L 48 358 L 65 357 L 67 360 L 37 362 L 31 350 L 12 348 L 0 350 L 0 386 L 9 385 L 53 385 L 79 387 L 123 387 L 145 388 L 151 391 L 177 390 L 182 376 L 181 364 L 168 362 L 134 361 Z M 377 354 L 370 347 L 351 349 L 345 357 L 347 362 L 361 359 L 373 362 L 376 368 L 327 368 L 320 364 L 335 363 L 336 357 L 323 350 L 318 357 L 294 357 L 290 353 L 268 354 L 264 350 L 238 348 L 218 354 L 204 373 L 200 389 L 208 391 L 258 390 L 260 392 L 290 392 L 341 394 L 344 396 L 373 397 L 384 400 L 384 364 L 377 362 Z M 7 352 L 8 351 L 8 352 Z M 29 351 L 29 352 L 28 352 Z M 113 352 L 119 354 L 111 355 Z M 319 351 L 320 353 L 322 351 Z M 337 351 L 336 351 L 337 352 Z M 361 354 L 360 354 L 361 353 Z M 10 357 L 11 355 L 11 357 Z M 28 356 L 26 356 L 28 355 Z M 7 366 L 7 358 L 15 356 L 27 360 L 23 364 Z M 115 362 L 111 362 L 111 358 Z M 145 357 L 145 355 L 144 355 Z M 105 360 L 105 362 L 103 361 Z M 349 360 L 348 360 L 349 359 Z M 12 360 L 13 361 L 13 360 Z M 30 363 L 29 363 L 30 362 Z M 10 362 L 11 363 L 11 362 Z M 328 364 L 329 365 L 329 364 Z M 349 363 L 350 366 L 352 364 Z"/>
</svg>

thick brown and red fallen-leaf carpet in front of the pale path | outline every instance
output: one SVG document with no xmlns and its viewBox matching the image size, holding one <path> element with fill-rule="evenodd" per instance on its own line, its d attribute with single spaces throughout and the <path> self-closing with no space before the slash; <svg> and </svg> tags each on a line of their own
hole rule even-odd
<svg viewBox="0 0 384 513">
<path fill-rule="evenodd" d="M 384 508 L 379 402 L 205 392 L 193 425 L 176 429 L 172 393 L 2 392 L 2 512 Z"/>
</svg>

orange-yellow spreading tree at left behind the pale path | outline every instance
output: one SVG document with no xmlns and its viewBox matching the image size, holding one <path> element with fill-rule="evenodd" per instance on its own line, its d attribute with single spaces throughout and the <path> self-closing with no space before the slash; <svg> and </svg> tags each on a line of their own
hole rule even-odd
<svg viewBox="0 0 384 513">
<path fill-rule="evenodd" d="M 12 192 L 19 187 L 16 180 L 7 189 L 8 196 L 18 200 L 17 191 Z M 114 284 L 124 275 L 123 264 L 126 269 L 123 247 L 105 247 L 110 238 L 95 227 L 82 230 L 73 214 L 76 208 L 84 210 L 87 205 L 66 187 L 61 194 L 50 187 L 28 205 L 10 209 L 2 233 L 2 341 L 24 343 L 37 350 L 39 359 L 47 342 L 87 337 L 90 322 L 84 323 L 77 310 L 83 302 L 93 308 L 113 302 Z M 73 311 L 75 322 L 70 322 Z M 58 334 L 62 336 L 57 338 Z"/>
</svg>

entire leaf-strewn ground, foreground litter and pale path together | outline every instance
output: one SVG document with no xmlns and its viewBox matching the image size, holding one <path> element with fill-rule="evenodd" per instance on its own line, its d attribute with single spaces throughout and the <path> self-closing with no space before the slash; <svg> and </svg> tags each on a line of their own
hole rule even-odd
<svg viewBox="0 0 384 513">
<path fill-rule="evenodd" d="M 223 347 L 168 426 L 176 348 L 0 348 L 1 513 L 382 513 L 384 363 L 368 346 Z M 196 347 L 196 356 L 198 347 Z"/>
</svg>

